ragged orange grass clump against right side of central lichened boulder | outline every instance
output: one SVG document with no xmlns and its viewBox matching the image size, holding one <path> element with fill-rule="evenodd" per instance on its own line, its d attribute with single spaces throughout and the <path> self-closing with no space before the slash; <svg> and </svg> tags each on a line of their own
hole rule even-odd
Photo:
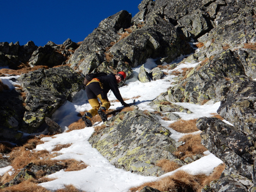
<svg viewBox="0 0 256 192">
<path fill-rule="evenodd" d="M 183 145 L 177 148 L 174 153 L 179 159 L 184 160 L 186 157 L 192 157 L 193 155 L 201 154 L 207 151 L 207 149 L 201 144 L 201 136 L 199 134 L 187 134 L 181 137 L 179 141 L 185 142 Z"/>
</svg>

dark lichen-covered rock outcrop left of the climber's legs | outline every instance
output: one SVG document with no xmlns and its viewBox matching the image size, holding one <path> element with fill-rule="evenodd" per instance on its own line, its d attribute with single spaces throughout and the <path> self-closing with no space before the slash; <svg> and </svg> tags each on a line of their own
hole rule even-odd
<svg viewBox="0 0 256 192">
<path fill-rule="evenodd" d="M 36 131 L 45 117 L 50 117 L 66 100 L 71 101 L 74 93 L 83 85 L 83 77 L 68 66 L 39 69 L 18 78 L 25 99 L 25 114 L 22 130 Z"/>
</svg>

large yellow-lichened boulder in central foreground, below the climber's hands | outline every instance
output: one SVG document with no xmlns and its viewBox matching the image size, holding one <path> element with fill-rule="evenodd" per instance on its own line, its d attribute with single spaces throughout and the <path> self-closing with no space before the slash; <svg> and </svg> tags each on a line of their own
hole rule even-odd
<svg viewBox="0 0 256 192">
<path fill-rule="evenodd" d="M 155 164 L 159 159 L 177 159 L 172 154 L 176 142 L 156 119 L 140 110 L 121 112 L 111 119 L 114 125 L 92 134 L 89 142 L 117 168 L 161 176 L 164 172 Z"/>
</svg>

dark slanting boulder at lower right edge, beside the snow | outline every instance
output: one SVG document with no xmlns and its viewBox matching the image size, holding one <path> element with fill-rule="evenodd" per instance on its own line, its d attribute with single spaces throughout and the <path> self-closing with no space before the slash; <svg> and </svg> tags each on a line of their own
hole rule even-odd
<svg viewBox="0 0 256 192">
<path fill-rule="evenodd" d="M 211 153 L 255 184 L 256 139 L 254 137 L 248 137 L 216 117 L 199 118 L 197 128 L 203 131 L 201 143 Z"/>
</svg>

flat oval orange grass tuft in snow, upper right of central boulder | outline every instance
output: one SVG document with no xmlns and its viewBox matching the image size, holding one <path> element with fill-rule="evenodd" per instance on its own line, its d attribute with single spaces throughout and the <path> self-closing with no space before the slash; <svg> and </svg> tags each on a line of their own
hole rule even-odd
<svg viewBox="0 0 256 192">
<path fill-rule="evenodd" d="M 172 129 L 180 133 L 192 133 L 195 131 L 199 131 L 199 129 L 197 129 L 197 126 L 196 126 L 196 121 L 197 119 L 191 119 L 191 120 L 179 119 L 174 123 L 171 123 L 169 127 L 171 127 Z"/>
</svg>

